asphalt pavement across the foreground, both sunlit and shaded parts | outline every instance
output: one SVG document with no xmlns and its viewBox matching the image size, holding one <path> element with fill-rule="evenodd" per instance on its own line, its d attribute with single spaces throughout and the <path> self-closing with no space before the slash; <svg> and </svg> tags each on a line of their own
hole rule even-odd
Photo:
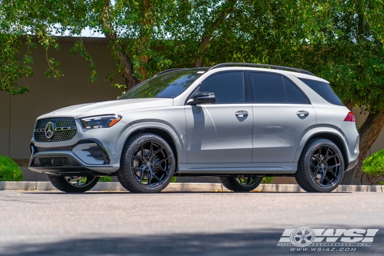
<svg viewBox="0 0 384 256">
<path fill-rule="evenodd" d="M 276 246 L 299 227 L 379 231 L 348 252 Z M 0 191 L 0 255 L 287 254 L 384 255 L 383 194 Z"/>
</svg>

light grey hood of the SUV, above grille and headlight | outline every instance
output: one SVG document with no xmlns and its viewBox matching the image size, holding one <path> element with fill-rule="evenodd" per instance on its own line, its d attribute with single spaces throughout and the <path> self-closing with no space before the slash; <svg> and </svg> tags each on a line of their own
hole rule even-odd
<svg viewBox="0 0 384 256">
<path fill-rule="evenodd" d="M 42 118 L 73 117 L 75 119 L 97 115 L 117 114 L 122 111 L 159 108 L 162 106 L 173 106 L 173 99 L 145 98 L 145 99 L 123 99 L 111 100 L 97 103 L 68 106 L 67 108 L 52 111 L 39 116 Z"/>
</svg>

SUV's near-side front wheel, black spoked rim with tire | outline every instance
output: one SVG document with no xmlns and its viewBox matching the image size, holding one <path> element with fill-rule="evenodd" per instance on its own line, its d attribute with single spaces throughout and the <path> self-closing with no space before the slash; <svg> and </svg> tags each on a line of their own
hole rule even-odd
<svg viewBox="0 0 384 256">
<path fill-rule="evenodd" d="M 123 148 L 117 179 L 132 193 L 157 193 L 169 184 L 175 166 L 172 148 L 163 138 L 138 134 Z"/>
</svg>

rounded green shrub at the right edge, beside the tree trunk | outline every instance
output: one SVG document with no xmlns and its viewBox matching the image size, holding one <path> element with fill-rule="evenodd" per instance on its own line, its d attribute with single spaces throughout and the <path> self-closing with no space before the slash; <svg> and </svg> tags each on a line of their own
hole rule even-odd
<svg viewBox="0 0 384 256">
<path fill-rule="evenodd" d="M 362 172 L 369 184 L 377 185 L 384 181 L 384 150 L 380 150 L 364 160 Z"/>
</svg>

